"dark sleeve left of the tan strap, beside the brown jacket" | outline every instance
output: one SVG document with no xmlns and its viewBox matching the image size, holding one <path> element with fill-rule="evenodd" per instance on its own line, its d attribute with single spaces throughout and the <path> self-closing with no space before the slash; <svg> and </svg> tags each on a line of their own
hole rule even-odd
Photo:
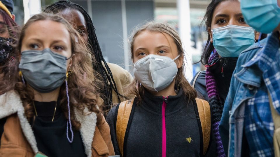
<svg viewBox="0 0 280 157">
<path fill-rule="evenodd" d="M 118 142 L 117 142 L 117 136 L 116 136 L 116 126 L 115 126 L 116 121 L 117 121 L 116 107 L 117 106 L 113 107 L 109 111 L 109 113 L 106 117 L 106 121 L 110 126 L 111 140 L 112 140 L 113 147 L 114 147 L 114 150 L 115 150 L 115 155 L 121 155 L 120 150 L 119 150 L 119 146 L 118 146 Z"/>
</svg>

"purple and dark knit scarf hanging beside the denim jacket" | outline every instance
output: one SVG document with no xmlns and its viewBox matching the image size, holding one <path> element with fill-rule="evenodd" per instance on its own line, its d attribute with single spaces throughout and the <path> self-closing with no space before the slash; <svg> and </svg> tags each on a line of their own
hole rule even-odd
<svg viewBox="0 0 280 157">
<path fill-rule="evenodd" d="M 218 53 L 216 50 L 214 50 L 214 53 L 212 56 L 210 56 L 208 63 L 210 63 L 215 58 L 218 58 Z M 219 133 L 219 124 L 223 113 L 223 104 L 217 91 L 217 84 L 214 74 L 209 70 L 209 67 L 206 69 L 206 91 L 209 97 L 209 104 L 212 106 L 213 110 L 213 132 L 216 138 L 217 155 L 218 157 L 225 157 L 225 151 Z"/>
</svg>

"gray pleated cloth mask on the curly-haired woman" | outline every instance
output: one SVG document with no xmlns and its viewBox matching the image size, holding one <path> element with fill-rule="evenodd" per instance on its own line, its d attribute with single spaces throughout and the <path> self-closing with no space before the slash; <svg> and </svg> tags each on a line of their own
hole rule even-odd
<svg viewBox="0 0 280 157">
<path fill-rule="evenodd" d="M 66 79 L 66 60 L 50 49 L 27 50 L 21 53 L 19 68 L 34 90 L 48 93 L 59 88 Z"/>
</svg>

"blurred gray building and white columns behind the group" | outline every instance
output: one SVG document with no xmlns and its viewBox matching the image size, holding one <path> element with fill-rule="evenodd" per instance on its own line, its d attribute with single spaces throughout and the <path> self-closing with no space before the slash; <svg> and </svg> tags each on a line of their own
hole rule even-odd
<svg viewBox="0 0 280 157">
<path fill-rule="evenodd" d="M 13 0 L 16 22 L 23 25 L 30 16 L 40 13 L 58 0 Z M 133 28 L 147 21 L 168 22 L 181 36 L 187 60 L 186 77 L 203 70 L 199 61 L 207 40 L 202 19 L 210 0 L 71 0 L 92 17 L 97 38 L 107 62 L 132 72 L 129 35 Z M 201 24 L 202 23 L 202 24 Z M 189 33 L 188 33 L 189 32 Z"/>
</svg>

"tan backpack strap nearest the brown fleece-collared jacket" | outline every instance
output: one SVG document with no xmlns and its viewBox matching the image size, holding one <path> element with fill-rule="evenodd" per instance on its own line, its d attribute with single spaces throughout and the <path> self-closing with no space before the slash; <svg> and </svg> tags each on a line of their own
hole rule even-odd
<svg viewBox="0 0 280 157">
<path fill-rule="evenodd" d="M 116 136 L 117 142 L 120 149 L 120 153 L 123 156 L 123 143 L 125 140 L 125 131 L 127 128 L 129 116 L 131 113 L 134 99 L 123 101 L 120 103 L 118 108 L 118 116 L 116 123 Z"/>
</svg>

